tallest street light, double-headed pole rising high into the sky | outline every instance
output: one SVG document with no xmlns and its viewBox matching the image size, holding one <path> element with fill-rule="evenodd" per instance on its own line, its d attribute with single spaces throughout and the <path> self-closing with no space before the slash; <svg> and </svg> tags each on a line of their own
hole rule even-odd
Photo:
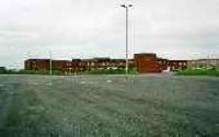
<svg viewBox="0 0 219 137">
<path fill-rule="evenodd" d="M 122 4 L 120 7 L 126 9 L 126 75 L 128 76 L 128 9 L 134 5 Z"/>
</svg>

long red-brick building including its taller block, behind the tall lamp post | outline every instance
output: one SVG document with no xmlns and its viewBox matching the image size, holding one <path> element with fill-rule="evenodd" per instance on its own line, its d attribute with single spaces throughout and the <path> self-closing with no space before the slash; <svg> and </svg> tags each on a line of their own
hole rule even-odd
<svg viewBox="0 0 219 137">
<path fill-rule="evenodd" d="M 49 59 L 28 59 L 25 60 L 26 70 L 49 70 Z M 135 54 L 134 59 L 128 60 L 129 68 L 136 68 L 139 73 L 162 72 L 170 70 L 185 69 L 186 60 L 168 60 L 158 58 L 155 54 Z M 125 59 L 92 58 L 92 59 L 72 59 L 72 60 L 51 60 L 53 70 L 59 70 L 66 75 L 72 75 L 88 70 L 103 69 L 124 69 Z"/>
</svg>

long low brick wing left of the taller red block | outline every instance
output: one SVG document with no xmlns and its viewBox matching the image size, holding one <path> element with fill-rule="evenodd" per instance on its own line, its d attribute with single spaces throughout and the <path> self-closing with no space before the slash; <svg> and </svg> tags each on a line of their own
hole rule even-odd
<svg viewBox="0 0 219 137">
<path fill-rule="evenodd" d="M 126 65 L 125 59 L 111 58 L 93 58 L 93 59 L 72 59 L 70 60 L 51 60 L 53 70 L 62 71 L 66 75 L 72 75 L 80 71 L 88 70 L 103 70 L 103 69 L 124 69 Z M 135 67 L 134 60 L 129 59 L 129 67 Z M 49 70 L 49 59 L 27 59 L 24 61 L 26 70 Z"/>
</svg>

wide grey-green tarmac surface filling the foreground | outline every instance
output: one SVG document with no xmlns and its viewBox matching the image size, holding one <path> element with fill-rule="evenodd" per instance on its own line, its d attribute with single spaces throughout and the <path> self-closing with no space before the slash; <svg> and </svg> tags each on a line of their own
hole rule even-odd
<svg viewBox="0 0 219 137">
<path fill-rule="evenodd" d="M 0 137 L 219 137 L 219 78 L 0 76 Z"/>
</svg>

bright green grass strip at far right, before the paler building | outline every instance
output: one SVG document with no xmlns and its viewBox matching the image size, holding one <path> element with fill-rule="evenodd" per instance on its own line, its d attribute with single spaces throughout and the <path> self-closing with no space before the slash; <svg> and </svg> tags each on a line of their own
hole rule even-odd
<svg viewBox="0 0 219 137">
<path fill-rule="evenodd" d="M 219 69 L 197 69 L 197 68 L 192 68 L 192 69 L 186 69 L 186 70 L 181 70 L 176 75 L 180 76 L 217 76 L 219 77 Z"/>
</svg>

